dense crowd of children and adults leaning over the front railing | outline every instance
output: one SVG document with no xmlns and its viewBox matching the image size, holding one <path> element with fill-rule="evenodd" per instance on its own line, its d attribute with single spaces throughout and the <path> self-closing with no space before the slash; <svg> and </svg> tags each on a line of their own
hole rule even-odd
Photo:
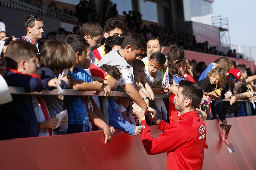
<svg viewBox="0 0 256 170">
<path fill-rule="evenodd" d="M 141 15 L 137 15 L 136 23 L 140 24 Z M 253 96 L 256 75 L 250 75 L 244 65 L 236 65 L 226 57 L 208 66 L 204 62 L 189 61 L 180 46 L 197 46 L 193 36 L 158 26 L 137 31 L 139 28 L 132 26 L 133 19 L 129 20 L 128 27 L 126 22 L 112 17 L 106 20 L 103 29 L 99 23 L 88 21 L 80 30 L 74 28 L 69 32 L 60 28 L 43 38 L 43 18 L 30 15 L 24 21 L 26 34 L 22 40 L 5 34 L 1 38 L 5 43 L 0 74 L 8 86 L 24 87 L 28 92 L 57 88 L 92 91 L 98 95 L 104 91 L 108 97 L 109 120 L 103 117 L 97 96 L 12 95 L 12 102 L 0 105 L 0 139 L 71 134 L 99 128 L 104 131 L 105 143 L 111 141 L 115 128 L 137 136 L 143 129 L 133 114 L 133 103 L 141 107 L 145 115 L 151 116 L 148 109 L 153 109 L 160 120 L 178 122 L 181 107 L 175 100 L 180 80 L 197 83 L 204 91 L 197 107 L 198 115 L 203 120 L 220 119 L 224 126 L 227 117 L 245 115 L 244 103 L 236 102 L 237 99 L 247 98 L 250 102 L 256 99 Z M 123 39 L 127 29 L 130 33 Z M 100 45 L 102 36 L 106 41 Z M 165 54 L 162 53 L 164 43 L 169 46 Z M 207 46 L 203 43 L 200 48 L 207 52 Z M 111 91 L 125 91 L 129 98 L 110 97 Z M 155 94 L 170 94 L 169 101 L 155 98 Z M 224 98 L 230 101 L 222 101 Z M 254 109 L 252 112 L 254 114 Z M 59 114 L 63 115 L 61 120 L 56 118 Z M 152 125 L 147 116 L 146 121 Z"/>
</svg>

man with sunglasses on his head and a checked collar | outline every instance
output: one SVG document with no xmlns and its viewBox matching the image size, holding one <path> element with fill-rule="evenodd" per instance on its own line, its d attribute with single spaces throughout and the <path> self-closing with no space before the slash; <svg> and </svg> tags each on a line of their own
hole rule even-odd
<svg viewBox="0 0 256 170">
<path fill-rule="evenodd" d="M 24 21 L 24 26 L 27 34 L 22 36 L 22 39 L 34 44 L 38 50 L 37 55 L 39 55 L 41 47 L 37 41 L 42 38 L 44 33 L 43 19 L 38 15 L 27 16 Z"/>
</svg>

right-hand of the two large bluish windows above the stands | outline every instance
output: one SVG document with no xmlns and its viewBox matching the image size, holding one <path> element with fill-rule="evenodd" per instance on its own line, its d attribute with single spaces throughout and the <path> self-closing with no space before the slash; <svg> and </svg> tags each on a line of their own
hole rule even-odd
<svg viewBox="0 0 256 170">
<path fill-rule="evenodd" d="M 157 4 L 155 2 L 140 0 L 141 19 L 158 22 Z"/>
</svg>

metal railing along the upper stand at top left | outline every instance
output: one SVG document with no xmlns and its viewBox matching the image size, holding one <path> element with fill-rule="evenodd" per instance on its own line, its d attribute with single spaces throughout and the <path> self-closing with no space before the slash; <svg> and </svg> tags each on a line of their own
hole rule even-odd
<svg viewBox="0 0 256 170">
<path fill-rule="evenodd" d="M 55 17 L 76 22 L 78 21 L 78 18 L 76 17 L 29 0 L 0 0 L 0 4 L 2 6 L 31 11 L 36 14 L 46 15 L 49 17 Z"/>
</svg>

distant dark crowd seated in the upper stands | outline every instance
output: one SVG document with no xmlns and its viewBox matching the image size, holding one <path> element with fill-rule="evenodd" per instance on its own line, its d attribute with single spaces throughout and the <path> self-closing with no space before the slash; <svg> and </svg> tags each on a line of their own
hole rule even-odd
<svg viewBox="0 0 256 170">
<path fill-rule="evenodd" d="M 116 17 L 118 15 L 118 11 L 116 10 L 116 5 L 109 1 L 104 1 L 103 5 L 103 14 L 97 15 L 96 6 L 92 5 L 89 1 L 80 1 L 80 3 L 76 6 L 76 17 L 78 17 L 79 22 L 87 22 L 87 21 L 95 21 L 99 23 L 102 27 L 104 27 L 107 19 L 111 17 Z M 157 24 L 151 24 L 149 26 L 143 25 L 142 23 L 142 14 L 137 11 L 123 11 L 123 15 L 126 17 L 124 22 L 127 26 L 126 33 L 124 35 L 130 34 L 140 34 L 148 41 L 153 36 L 158 36 L 163 41 L 164 46 L 171 46 L 173 44 L 182 47 L 185 50 L 196 51 L 200 53 L 208 53 L 219 56 L 227 56 L 227 57 L 239 57 L 236 56 L 236 50 L 228 51 L 225 54 L 222 51 L 218 51 L 215 46 L 209 47 L 208 42 L 197 43 L 195 35 L 192 33 L 184 32 L 181 30 L 172 31 L 169 28 L 161 27 Z"/>
</svg>

